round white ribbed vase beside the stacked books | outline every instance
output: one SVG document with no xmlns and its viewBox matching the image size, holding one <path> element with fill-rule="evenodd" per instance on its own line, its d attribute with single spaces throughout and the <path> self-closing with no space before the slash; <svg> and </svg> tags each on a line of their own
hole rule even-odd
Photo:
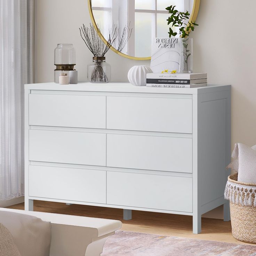
<svg viewBox="0 0 256 256">
<path fill-rule="evenodd" d="M 148 66 L 133 66 L 128 71 L 128 80 L 132 85 L 146 86 L 146 74 L 152 73 Z"/>
</svg>

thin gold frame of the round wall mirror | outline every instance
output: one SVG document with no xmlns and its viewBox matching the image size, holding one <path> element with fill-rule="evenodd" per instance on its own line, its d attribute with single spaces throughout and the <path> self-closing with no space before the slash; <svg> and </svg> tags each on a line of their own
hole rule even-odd
<svg viewBox="0 0 256 256">
<path fill-rule="evenodd" d="M 192 21 L 195 22 L 196 21 L 197 15 L 198 15 L 198 11 L 199 11 L 199 6 L 200 6 L 200 0 L 194 0 L 193 10 L 192 10 L 192 13 L 190 15 L 189 22 L 192 22 Z M 98 35 L 101 37 L 103 42 L 105 44 L 107 44 L 107 40 L 103 37 L 102 33 L 99 31 L 99 29 L 97 27 L 97 24 L 95 22 L 95 19 L 94 19 L 94 16 L 93 16 L 93 9 L 91 7 L 91 0 L 88 0 L 88 8 L 89 8 L 89 13 L 90 13 L 90 17 L 91 17 L 91 21 L 93 23 L 93 26 L 95 27 Z M 139 60 L 139 61 L 145 61 L 145 60 L 151 59 L 151 57 L 133 57 L 133 56 L 121 53 L 120 51 L 115 49 L 113 46 L 110 46 L 110 49 L 112 51 L 114 51 L 115 53 L 119 54 L 120 56 L 123 56 L 123 57 L 128 58 L 128 59 L 135 59 L 135 60 Z"/>
</svg>

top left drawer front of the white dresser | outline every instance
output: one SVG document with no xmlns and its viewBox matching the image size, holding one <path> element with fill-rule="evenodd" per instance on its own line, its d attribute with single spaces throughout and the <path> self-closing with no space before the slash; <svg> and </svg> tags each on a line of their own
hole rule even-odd
<svg viewBox="0 0 256 256">
<path fill-rule="evenodd" d="M 29 95 L 29 125 L 106 128 L 106 97 Z"/>
</svg>

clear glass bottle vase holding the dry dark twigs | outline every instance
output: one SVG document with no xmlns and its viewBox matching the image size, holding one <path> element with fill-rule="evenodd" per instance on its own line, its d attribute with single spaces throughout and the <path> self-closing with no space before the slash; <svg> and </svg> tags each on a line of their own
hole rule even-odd
<svg viewBox="0 0 256 256">
<path fill-rule="evenodd" d="M 93 57 L 93 63 L 87 66 L 87 80 L 91 83 L 110 82 L 111 66 L 105 57 Z"/>
</svg>

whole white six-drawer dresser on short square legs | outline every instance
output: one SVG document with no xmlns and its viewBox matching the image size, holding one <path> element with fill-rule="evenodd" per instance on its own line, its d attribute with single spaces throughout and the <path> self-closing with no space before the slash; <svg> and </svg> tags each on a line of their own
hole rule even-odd
<svg viewBox="0 0 256 256">
<path fill-rule="evenodd" d="M 33 200 L 193 216 L 229 205 L 231 86 L 25 85 L 25 209 Z M 171 218 L 171 215 L 170 215 Z"/>
</svg>

